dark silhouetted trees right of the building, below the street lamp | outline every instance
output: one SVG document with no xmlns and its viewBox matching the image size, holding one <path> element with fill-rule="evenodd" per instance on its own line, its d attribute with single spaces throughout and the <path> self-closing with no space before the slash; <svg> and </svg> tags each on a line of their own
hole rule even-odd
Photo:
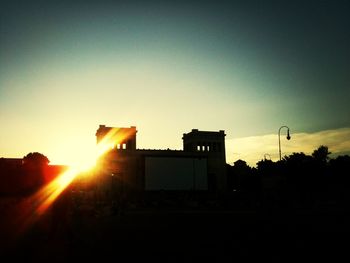
<svg viewBox="0 0 350 263">
<path fill-rule="evenodd" d="M 329 158 L 321 145 L 311 155 L 293 153 L 281 161 L 261 160 L 257 168 L 238 160 L 228 165 L 228 190 L 245 208 L 346 209 L 350 156 Z M 231 194 L 233 195 L 233 194 Z"/>
</svg>

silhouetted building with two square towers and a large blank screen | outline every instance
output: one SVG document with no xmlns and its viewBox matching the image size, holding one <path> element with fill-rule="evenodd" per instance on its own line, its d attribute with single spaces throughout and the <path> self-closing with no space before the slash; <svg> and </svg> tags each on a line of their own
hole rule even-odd
<svg viewBox="0 0 350 263">
<path fill-rule="evenodd" d="M 99 126 L 97 143 L 110 147 L 99 159 L 101 186 L 114 193 L 226 190 L 223 130 L 193 129 L 183 134 L 183 150 L 137 149 L 136 134 L 135 126 Z"/>
</svg>

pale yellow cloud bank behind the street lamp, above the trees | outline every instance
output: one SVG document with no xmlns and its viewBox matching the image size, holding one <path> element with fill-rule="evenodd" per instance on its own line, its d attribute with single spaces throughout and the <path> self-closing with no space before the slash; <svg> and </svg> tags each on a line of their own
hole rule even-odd
<svg viewBox="0 0 350 263">
<path fill-rule="evenodd" d="M 350 152 L 350 128 L 315 133 L 292 133 L 289 141 L 286 139 L 285 132 L 281 130 L 282 156 L 293 152 L 311 154 L 320 145 L 328 146 L 332 156 Z M 278 134 L 226 140 L 226 159 L 230 164 L 241 159 L 250 166 L 255 166 L 264 158 L 273 161 L 279 159 Z"/>
</svg>

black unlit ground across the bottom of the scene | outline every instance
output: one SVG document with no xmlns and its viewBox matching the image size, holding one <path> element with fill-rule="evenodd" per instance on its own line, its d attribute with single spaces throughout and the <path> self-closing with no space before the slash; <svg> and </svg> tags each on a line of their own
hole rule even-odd
<svg viewBox="0 0 350 263">
<path fill-rule="evenodd" d="M 12 262 L 349 262 L 341 211 L 130 210 L 79 214 L 2 240 Z M 2 261 L 2 260 L 1 260 Z M 9 261 L 2 261 L 9 262 Z"/>
</svg>

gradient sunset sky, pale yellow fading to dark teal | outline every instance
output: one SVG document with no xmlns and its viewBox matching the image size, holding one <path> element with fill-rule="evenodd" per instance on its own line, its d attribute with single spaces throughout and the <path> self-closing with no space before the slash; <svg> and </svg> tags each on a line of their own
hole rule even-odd
<svg viewBox="0 0 350 263">
<path fill-rule="evenodd" d="M 74 3 L 72 3 L 74 2 Z M 225 130 L 226 160 L 350 153 L 350 1 L 3 1 L 0 157 Z M 287 126 L 291 140 L 286 140 Z"/>
</svg>

